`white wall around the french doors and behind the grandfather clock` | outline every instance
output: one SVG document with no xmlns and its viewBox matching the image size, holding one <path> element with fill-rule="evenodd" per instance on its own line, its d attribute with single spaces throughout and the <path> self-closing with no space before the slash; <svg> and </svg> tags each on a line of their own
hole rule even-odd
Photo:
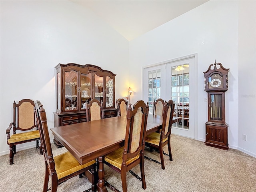
<svg viewBox="0 0 256 192">
<path fill-rule="evenodd" d="M 132 102 L 135 102 L 143 96 L 141 88 L 143 66 L 198 53 L 198 85 L 194 85 L 198 86 L 198 135 L 195 137 L 205 141 L 204 123 L 207 121 L 207 103 L 204 102 L 204 98 L 207 97 L 207 93 L 204 91 L 203 72 L 215 60 L 221 62 L 225 68 L 230 68 L 228 74 L 229 90 L 226 92 L 226 122 L 229 124 L 228 143 L 230 148 L 239 148 L 252 156 L 256 156 L 255 2 L 249 1 L 246 2 L 246 5 L 251 6 L 251 8 L 247 9 L 247 6 L 243 6 L 243 1 L 209 1 L 132 40 L 129 57 L 130 85 L 136 90 L 131 98 Z M 248 33 L 245 30 L 240 31 L 245 25 L 244 23 L 249 20 L 250 22 L 246 26 L 251 25 L 254 29 Z M 241 33 L 238 34 L 238 32 Z M 243 40 L 250 42 L 247 44 L 247 50 L 250 50 L 248 54 L 238 53 L 244 48 L 238 47 L 238 42 Z M 244 59 L 251 63 L 250 66 L 254 65 L 252 67 L 254 75 L 250 77 L 243 73 L 238 75 L 238 70 L 247 66 L 244 61 L 242 62 Z M 241 85 L 243 88 L 240 89 L 238 87 L 239 80 L 245 76 L 252 83 L 243 83 Z M 193 85 L 191 86 L 193 87 Z M 247 114 L 254 114 L 253 118 L 248 118 L 249 116 L 246 115 L 240 118 L 242 112 L 240 112 L 240 108 L 238 109 L 238 95 L 246 94 L 246 92 L 254 95 L 250 101 L 248 99 L 248 103 L 254 100 L 252 102 L 254 107 L 244 106 L 243 109 L 246 108 Z M 247 121 L 246 126 L 244 126 L 245 121 Z M 250 133 L 252 135 L 247 137 L 246 143 L 240 144 L 242 132 L 247 136 Z"/>
</svg>

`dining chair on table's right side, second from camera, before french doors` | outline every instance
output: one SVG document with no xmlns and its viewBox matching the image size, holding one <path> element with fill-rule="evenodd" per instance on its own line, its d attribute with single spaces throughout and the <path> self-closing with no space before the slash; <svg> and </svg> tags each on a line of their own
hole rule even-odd
<svg viewBox="0 0 256 192">
<path fill-rule="evenodd" d="M 162 169 L 164 167 L 164 154 L 163 147 L 168 144 L 170 161 L 172 161 L 172 151 L 171 151 L 171 131 L 172 131 L 172 118 L 174 112 L 174 103 L 172 100 L 169 100 L 166 104 L 164 104 L 164 115 L 163 115 L 163 123 L 161 133 L 154 132 L 148 136 L 146 136 L 146 146 L 150 147 L 150 151 L 152 152 L 153 148 L 159 150 L 160 159 Z"/>
</svg>

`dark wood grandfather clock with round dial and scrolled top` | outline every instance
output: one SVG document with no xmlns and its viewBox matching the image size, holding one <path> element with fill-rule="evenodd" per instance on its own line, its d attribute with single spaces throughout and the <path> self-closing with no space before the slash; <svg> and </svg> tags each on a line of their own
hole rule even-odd
<svg viewBox="0 0 256 192">
<path fill-rule="evenodd" d="M 225 92 L 228 72 L 221 63 L 211 64 L 204 72 L 204 90 L 208 94 L 208 121 L 205 123 L 208 146 L 228 150 L 228 124 L 225 122 Z"/>
</svg>

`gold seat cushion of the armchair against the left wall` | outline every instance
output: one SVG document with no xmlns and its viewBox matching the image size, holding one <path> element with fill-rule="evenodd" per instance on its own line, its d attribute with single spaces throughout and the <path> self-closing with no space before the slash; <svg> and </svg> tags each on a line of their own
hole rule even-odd
<svg viewBox="0 0 256 192">
<path fill-rule="evenodd" d="M 8 139 L 8 143 L 17 143 L 17 142 L 22 142 L 26 140 L 31 140 L 31 139 L 40 139 L 40 133 L 39 130 L 35 131 L 29 131 L 29 132 L 24 132 L 24 133 L 16 133 L 10 136 L 10 139 Z"/>
</svg>

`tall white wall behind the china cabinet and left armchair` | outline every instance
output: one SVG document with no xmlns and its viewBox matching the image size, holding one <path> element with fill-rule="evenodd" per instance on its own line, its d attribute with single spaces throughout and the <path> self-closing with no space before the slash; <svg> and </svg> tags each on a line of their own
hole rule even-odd
<svg viewBox="0 0 256 192">
<path fill-rule="evenodd" d="M 48 127 L 53 127 L 58 63 L 94 64 L 112 71 L 117 74 L 119 98 L 128 90 L 128 82 L 122 86 L 123 79 L 129 79 L 122 68 L 128 65 L 128 52 L 125 38 L 70 1 L 1 1 L 0 154 L 9 152 L 5 132 L 12 122 L 14 100 L 40 100 Z M 35 142 L 17 150 L 31 145 Z"/>
</svg>

